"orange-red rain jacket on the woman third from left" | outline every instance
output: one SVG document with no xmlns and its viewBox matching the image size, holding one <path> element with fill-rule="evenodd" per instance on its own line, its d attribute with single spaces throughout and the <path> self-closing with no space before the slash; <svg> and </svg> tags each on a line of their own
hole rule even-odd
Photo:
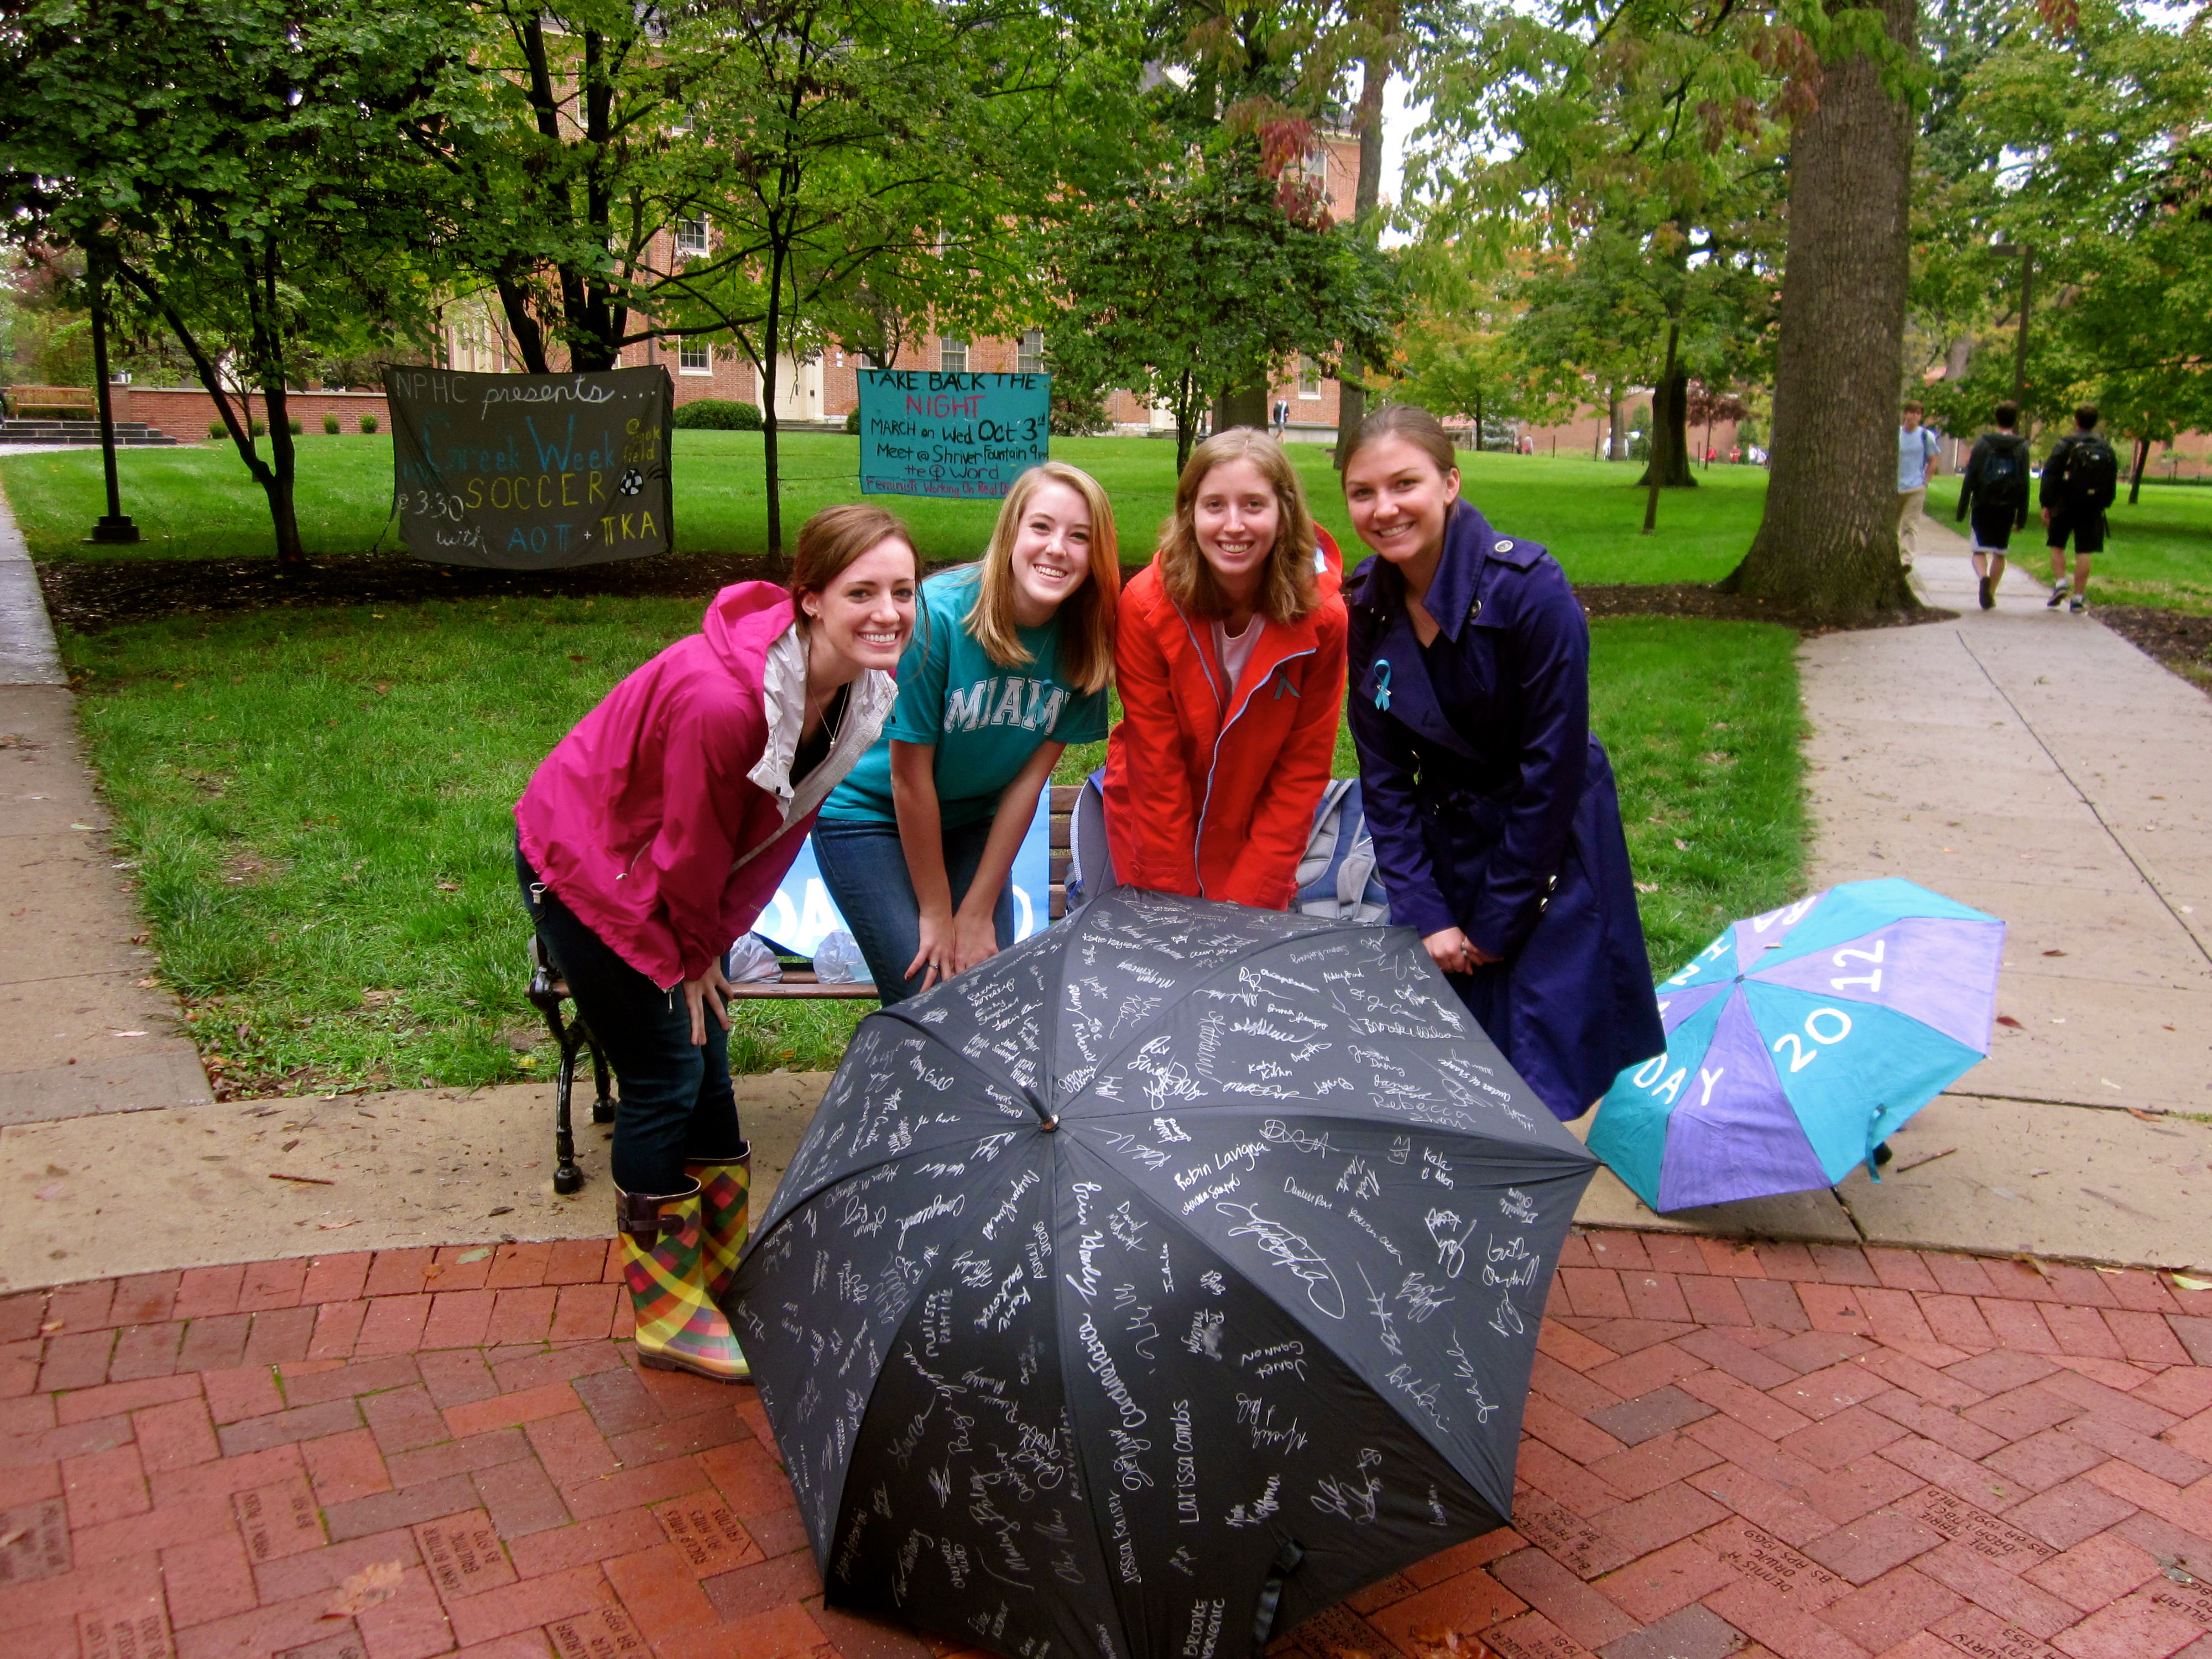
<svg viewBox="0 0 2212 1659">
<path fill-rule="evenodd" d="M 1261 619 L 1234 692 L 1212 624 L 1186 615 L 1155 557 L 1121 588 L 1106 741 L 1106 838 L 1130 887 L 1287 909 L 1345 701 L 1343 555 L 1321 535 L 1321 604 Z"/>
</svg>

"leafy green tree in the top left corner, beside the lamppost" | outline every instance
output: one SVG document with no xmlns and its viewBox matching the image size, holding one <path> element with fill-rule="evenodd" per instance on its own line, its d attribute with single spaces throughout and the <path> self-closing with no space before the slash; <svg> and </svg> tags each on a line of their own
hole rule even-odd
<svg viewBox="0 0 2212 1659">
<path fill-rule="evenodd" d="M 303 562 L 288 394 L 319 354 L 427 325 L 394 108 L 442 53 L 376 0 L 44 0 L 0 24 L 0 188 L 166 327 Z M 268 411 L 263 458 L 246 392 Z"/>
</svg>

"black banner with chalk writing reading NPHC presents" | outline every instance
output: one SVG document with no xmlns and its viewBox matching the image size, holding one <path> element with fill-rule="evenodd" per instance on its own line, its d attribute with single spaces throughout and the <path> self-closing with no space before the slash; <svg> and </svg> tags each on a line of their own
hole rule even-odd
<svg viewBox="0 0 2212 1659">
<path fill-rule="evenodd" d="M 666 553 L 672 396 L 668 369 L 385 369 L 407 551 L 495 571 Z"/>
</svg>

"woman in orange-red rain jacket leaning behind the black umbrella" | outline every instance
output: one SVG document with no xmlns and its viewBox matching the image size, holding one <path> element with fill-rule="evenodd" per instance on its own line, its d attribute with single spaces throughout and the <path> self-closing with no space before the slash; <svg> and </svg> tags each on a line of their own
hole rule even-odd
<svg viewBox="0 0 2212 1659">
<path fill-rule="evenodd" d="M 1283 447 L 1201 442 L 1121 588 L 1106 836 L 1130 887 L 1285 909 L 1345 697 L 1343 555 Z"/>
</svg>

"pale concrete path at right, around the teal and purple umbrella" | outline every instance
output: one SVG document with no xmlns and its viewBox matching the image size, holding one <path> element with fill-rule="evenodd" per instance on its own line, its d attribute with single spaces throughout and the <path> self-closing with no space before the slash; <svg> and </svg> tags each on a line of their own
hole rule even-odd
<svg viewBox="0 0 2212 1659">
<path fill-rule="evenodd" d="M 2095 608 L 2044 608 L 2024 540 L 1982 611 L 1924 520 L 1916 584 L 1958 622 L 1798 653 L 1812 885 L 1907 876 L 2002 916 L 1989 1060 L 1880 1183 L 1657 1219 L 1599 1175 L 1584 1221 L 2212 1267 L 2212 701 Z"/>
</svg>

